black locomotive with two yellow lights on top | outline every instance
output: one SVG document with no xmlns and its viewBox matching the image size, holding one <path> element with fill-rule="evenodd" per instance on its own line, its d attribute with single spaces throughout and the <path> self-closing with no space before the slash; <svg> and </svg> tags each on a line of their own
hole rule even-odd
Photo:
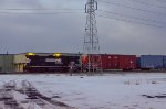
<svg viewBox="0 0 166 109">
<path fill-rule="evenodd" d="M 65 73 L 81 70 L 80 55 L 28 53 L 29 63 L 24 70 L 30 73 Z"/>
</svg>

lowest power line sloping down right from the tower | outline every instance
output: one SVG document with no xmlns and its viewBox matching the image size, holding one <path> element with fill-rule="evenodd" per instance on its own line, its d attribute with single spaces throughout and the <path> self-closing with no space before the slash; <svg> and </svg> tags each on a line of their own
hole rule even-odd
<svg viewBox="0 0 166 109">
<path fill-rule="evenodd" d="M 122 22 L 127 22 L 127 23 L 136 23 L 136 24 L 142 24 L 142 25 L 147 25 L 147 26 L 155 26 L 155 28 L 166 29 L 166 26 L 163 26 L 163 25 L 143 23 L 143 22 L 137 22 L 137 21 L 132 21 L 132 20 L 126 20 L 126 19 L 120 19 L 120 18 L 113 18 L 113 17 L 106 17 L 106 15 L 101 15 L 101 14 L 96 14 L 96 15 L 101 17 L 101 18 L 113 19 L 113 20 L 116 20 L 116 21 L 122 21 Z"/>
</svg>

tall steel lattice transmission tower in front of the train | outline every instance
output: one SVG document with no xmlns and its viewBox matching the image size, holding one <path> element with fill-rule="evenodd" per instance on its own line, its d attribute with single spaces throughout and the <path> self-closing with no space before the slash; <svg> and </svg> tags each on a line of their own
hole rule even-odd
<svg viewBox="0 0 166 109">
<path fill-rule="evenodd" d="M 95 0 L 87 0 L 85 4 L 86 25 L 84 35 L 84 54 L 87 55 L 87 72 L 101 72 L 102 59 L 100 55 L 100 44 L 97 36 L 95 11 L 97 10 L 97 2 Z"/>
</svg>

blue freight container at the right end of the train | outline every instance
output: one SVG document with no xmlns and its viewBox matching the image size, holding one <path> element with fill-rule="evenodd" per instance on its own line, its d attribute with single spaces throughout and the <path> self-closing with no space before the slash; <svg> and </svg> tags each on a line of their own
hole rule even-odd
<svg viewBox="0 0 166 109">
<path fill-rule="evenodd" d="M 164 67 L 163 55 L 142 55 L 141 68 L 158 69 Z"/>
</svg>

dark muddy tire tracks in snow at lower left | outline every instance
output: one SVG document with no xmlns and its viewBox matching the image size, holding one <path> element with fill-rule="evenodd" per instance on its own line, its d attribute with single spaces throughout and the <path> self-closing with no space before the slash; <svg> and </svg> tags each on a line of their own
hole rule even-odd
<svg viewBox="0 0 166 109">
<path fill-rule="evenodd" d="M 18 88 L 15 81 L 6 83 L 0 89 L 0 109 L 76 109 L 42 95 L 27 80 Z"/>
</svg>

